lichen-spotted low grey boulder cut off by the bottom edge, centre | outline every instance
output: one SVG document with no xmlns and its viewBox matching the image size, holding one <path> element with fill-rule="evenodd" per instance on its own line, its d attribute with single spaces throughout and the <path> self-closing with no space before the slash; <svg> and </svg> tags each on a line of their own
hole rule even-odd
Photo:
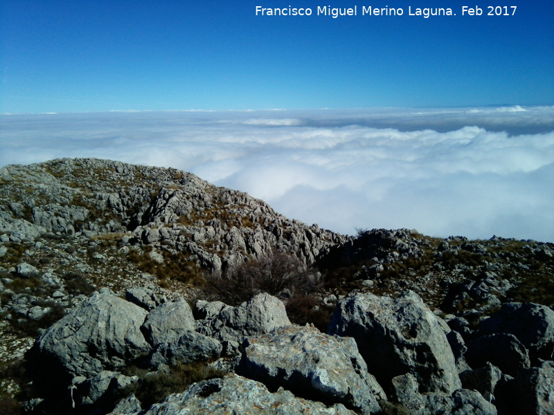
<svg viewBox="0 0 554 415">
<path fill-rule="evenodd" d="M 355 415 L 341 404 L 332 406 L 296 398 L 291 392 L 270 393 L 260 382 L 229 374 L 195 383 L 188 391 L 168 396 L 141 415 Z M 139 415 L 137 412 L 134 415 Z"/>
</svg>

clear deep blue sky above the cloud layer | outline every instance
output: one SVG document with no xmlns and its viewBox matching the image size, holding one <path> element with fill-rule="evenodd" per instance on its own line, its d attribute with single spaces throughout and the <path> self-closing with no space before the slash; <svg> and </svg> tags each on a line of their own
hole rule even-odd
<svg viewBox="0 0 554 415">
<path fill-rule="evenodd" d="M 554 1 L 487 4 L 0 0 L 0 113 L 554 104 Z M 255 15 L 289 5 L 314 15 Z M 328 5 L 358 16 L 316 16 Z M 387 5 L 404 15 L 361 16 Z"/>
</svg>

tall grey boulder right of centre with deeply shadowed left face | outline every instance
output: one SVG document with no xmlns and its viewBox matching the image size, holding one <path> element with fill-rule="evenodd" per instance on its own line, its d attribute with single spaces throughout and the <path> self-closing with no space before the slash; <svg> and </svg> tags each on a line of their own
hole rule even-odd
<svg viewBox="0 0 554 415">
<path fill-rule="evenodd" d="M 412 374 L 420 391 L 452 394 L 461 387 L 445 324 L 409 291 L 397 299 L 370 293 L 337 304 L 330 333 L 355 338 L 371 374 L 385 390 L 395 376 Z"/>
</svg>

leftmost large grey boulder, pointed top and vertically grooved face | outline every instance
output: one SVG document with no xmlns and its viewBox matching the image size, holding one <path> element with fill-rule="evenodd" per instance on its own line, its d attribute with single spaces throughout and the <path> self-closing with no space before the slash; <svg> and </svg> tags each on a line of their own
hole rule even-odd
<svg viewBox="0 0 554 415">
<path fill-rule="evenodd" d="M 37 339 L 39 360 L 71 377 L 118 370 L 151 349 L 141 325 L 146 311 L 102 288 Z"/>
</svg>

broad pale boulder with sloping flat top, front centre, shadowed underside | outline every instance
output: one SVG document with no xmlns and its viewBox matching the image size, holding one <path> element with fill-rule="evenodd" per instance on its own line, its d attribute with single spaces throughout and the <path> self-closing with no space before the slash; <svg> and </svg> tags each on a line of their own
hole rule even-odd
<svg viewBox="0 0 554 415">
<path fill-rule="evenodd" d="M 386 399 L 352 338 L 311 327 L 289 326 L 247 338 L 238 373 L 270 390 L 285 387 L 296 396 L 343 403 L 364 414 L 380 412 L 378 402 Z"/>
</svg>

